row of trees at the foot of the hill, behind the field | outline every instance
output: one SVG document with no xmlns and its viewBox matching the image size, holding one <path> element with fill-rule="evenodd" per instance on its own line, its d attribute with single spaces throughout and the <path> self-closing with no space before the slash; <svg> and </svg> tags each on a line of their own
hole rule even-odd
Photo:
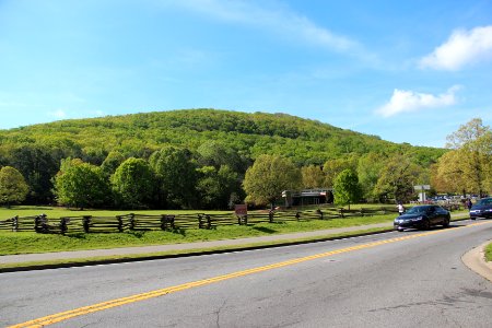
<svg viewBox="0 0 492 328">
<path fill-rule="evenodd" d="M 47 143 L 15 143 L 12 138 L 0 138 L 0 203 L 4 204 L 227 209 L 244 200 L 272 203 L 285 189 L 333 188 L 339 203 L 408 201 L 414 197 L 413 186 L 422 184 L 431 184 L 434 192 L 487 194 L 492 189 L 491 130 L 480 119 L 449 136 L 448 151 L 429 155 L 430 149 L 422 152 L 405 145 L 393 152 L 330 155 L 323 163 L 300 162 L 281 151 L 253 156 L 227 143 L 229 137 L 201 140 L 194 147 L 164 143 L 159 149 L 109 152 L 94 145 L 82 148 L 68 138 Z M 302 133 L 296 138 L 303 138 Z M 261 147 L 262 139 L 256 142 Z"/>
</svg>

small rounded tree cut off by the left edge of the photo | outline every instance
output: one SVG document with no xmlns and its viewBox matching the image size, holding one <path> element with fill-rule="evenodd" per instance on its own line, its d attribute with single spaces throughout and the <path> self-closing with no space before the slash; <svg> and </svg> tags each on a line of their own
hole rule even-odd
<svg viewBox="0 0 492 328">
<path fill-rule="evenodd" d="M 30 188 L 17 169 L 11 166 L 0 169 L 0 203 L 10 208 L 11 203 L 24 201 L 28 191 Z"/>
</svg>

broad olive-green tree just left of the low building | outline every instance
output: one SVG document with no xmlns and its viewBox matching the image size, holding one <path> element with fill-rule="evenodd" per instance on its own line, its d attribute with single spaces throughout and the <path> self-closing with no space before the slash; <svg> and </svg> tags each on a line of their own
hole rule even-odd
<svg viewBox="0 0 492 328">
<path fill-rule="evenodd" d="M 246 171 L 243 181 L 246 201 L 271 204 L 283 190 L 297 189 L 302 185 L 301 171 L 288 159 L 278 155 L 260 155 Z"/>
</svg>

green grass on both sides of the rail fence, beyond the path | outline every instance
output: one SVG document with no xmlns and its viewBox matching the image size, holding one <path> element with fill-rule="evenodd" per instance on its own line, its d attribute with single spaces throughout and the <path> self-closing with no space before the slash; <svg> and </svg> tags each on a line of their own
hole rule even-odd
<svg viewBox="0 0 492 328">
<path fill-rule="evenodd" d="M 362 207 L 368 208 L 367 204 Z M 380 207 L 380 206 L 379 206 Z M 352 206 L 352 208 L 356 208 Z M 191 211 L 134 211 L 136 213 L 162 214 L 162 213 L 190 213 Z M 201 211 L 195 211 L 201 212 Z M 61 208 L 48 207 L 15 207 L 0 209 L 0 220 L 14 215 L 27 216 L 46 213 L 48 218 L 65 215 L 102 215 L 114 216 L 125 214 L 125 211 L 73 211 Z M 207 213 L 212 213 L 207 211 Z M 387 222 L 391 225 L 396 214 L 374 215 L 363 218 L 345 218 L 329 220 L 312 220 L 288 223 L 261 223 L 255 225 L 227 225 L 218 226 L 214 230 L 187 229 L 175 232 L 163 231 L 136 231 L 124 233 L 91 233 L 49 235 L 35 232 L 0 232 L 0 255 L 33 254 L 47 251 L 65 251 L 80 249 L 116 248 L 128 246 L 165 245 L 178 243 L 192 243 L 204 241 L 234 239 L 242 237 L 265 236 L 272 234 L 285 234 L 293 232 L 306 232 L 344 226 L 360 226 L 373 223 Z"/>
</svg>

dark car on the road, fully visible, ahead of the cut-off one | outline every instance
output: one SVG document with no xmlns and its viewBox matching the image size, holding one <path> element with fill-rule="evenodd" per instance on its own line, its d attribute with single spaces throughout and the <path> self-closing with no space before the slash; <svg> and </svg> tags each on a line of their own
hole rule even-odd
<svg viewBox="0 0 492 328">
<path fill-rule="evenodd" d="M 440 206 L 417 206 L 395 219 L 395 230 L 403 231 L 409 227 L 431 229 L 434 225 L 449 226 L 450 214 Z"/>
</svg>

